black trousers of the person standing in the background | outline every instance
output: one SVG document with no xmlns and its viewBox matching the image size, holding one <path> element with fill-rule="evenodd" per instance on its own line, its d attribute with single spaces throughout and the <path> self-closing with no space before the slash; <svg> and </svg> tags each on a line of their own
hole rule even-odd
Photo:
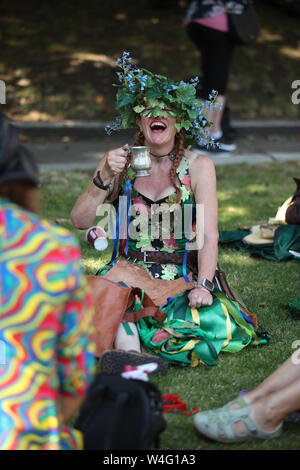
<svg viewBox="0 0 300 470">
<path fill-rule="evenodd" d="M 201 53 L 202 80 L 199 98 L 208 99 L 212 90 L 225 95 L 234 44 L 228 33 L 191 22 L 186 26 L 191 41 Z"/>
</svg>

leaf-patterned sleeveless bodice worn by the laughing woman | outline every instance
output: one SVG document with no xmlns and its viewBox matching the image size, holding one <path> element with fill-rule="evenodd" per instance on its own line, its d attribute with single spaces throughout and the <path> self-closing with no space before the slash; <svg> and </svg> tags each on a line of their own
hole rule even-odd
<svg viewBox="0 0 300 470">
<path fill-rule="evenodd" d="M 180 201 L 176 203 L 176 193 L 174 191 L 169 196 L 154 202 L 134 189 L 135 173 L 129 167 L 131 217 L 129 219 L 128 248 L 130 250 L 184 253 L 186 244 L 191 239 L 192 233 L 194 233 L 196 219 L 194 196 L 191 192 L 189 163 L 186 157 L 182 158 L 176 173 L 180 181 Z M 123 184 L 123 194 L 124 191 L 125 182 Z M 154 279 L 172 280 L 183 275 L 181 265 L 161 265 L 133 261 L 147 269 Z"/>
</svg>

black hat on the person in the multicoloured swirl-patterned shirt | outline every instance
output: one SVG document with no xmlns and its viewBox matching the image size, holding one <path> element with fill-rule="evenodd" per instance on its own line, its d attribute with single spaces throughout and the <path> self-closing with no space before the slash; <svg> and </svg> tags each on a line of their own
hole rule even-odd
<svg viewBox="0 0 300 470">
<path fill-rule="evenodd" d="M 18 129 L 0 115 L 0 183 L 26 180 L 39 184 L 39 170 L 31 152 L 20 143 Z"/>
</svg>

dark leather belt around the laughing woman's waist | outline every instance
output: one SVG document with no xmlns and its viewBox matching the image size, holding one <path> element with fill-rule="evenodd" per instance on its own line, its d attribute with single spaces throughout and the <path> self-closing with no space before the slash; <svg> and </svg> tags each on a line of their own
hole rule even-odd
<svg viewBox="0 0 300 470">
<path fill-rule="evenodd" d="M 128 250 L 126 258 L 133 258 L 144 263 L 182 264 L 184 253 L 168 253 L 166 251 L 134 251 Z M 188 251 L 187 265 L 193 271 L 197 271 L 197 250 Z"/>
</svg>

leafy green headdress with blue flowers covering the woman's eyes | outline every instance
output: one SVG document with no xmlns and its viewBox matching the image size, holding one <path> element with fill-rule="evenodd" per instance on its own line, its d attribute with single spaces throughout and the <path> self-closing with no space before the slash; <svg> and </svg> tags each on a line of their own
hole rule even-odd
<svg viewBox="0 0 300 470">
<path fill-rule="evenodd" d="M 174 82 L 162 75 L 156 75 L 146 69 L 134 68 L 129 52 L 123 52 L 117 60 L 121 71 L 117 72 L 119 84 L 116 94 L 116 111 L 119 115 L 106 131 L 136 127 L 140 116 L 161 117 L 176 116 L 178 132 L 185 130 L 185 146 L 198 142 L 201 145 L 211 143 L 208 127 L 211 125 L 205 117 L 206 109 L 217 106 L 217 92 L 212 91 L 210 101 L 201 102 L 196 98 L 198 78 L 189 82 Z"/>
</svg>

